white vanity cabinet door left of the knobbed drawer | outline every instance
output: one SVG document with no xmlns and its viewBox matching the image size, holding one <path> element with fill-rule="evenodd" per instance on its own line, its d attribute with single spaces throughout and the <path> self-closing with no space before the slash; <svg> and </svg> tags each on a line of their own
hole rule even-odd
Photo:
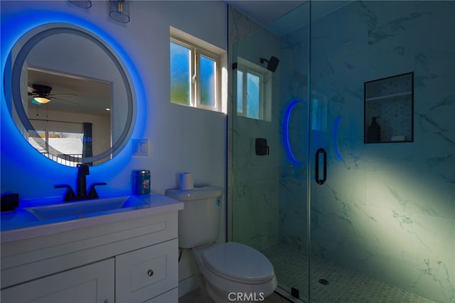
<svg viewBox="0 0 455 303">
<path fill-rule="evenodd" d="M 2 303 L 114 303 L 114 258 L 1 290 Z"/>
</svg>

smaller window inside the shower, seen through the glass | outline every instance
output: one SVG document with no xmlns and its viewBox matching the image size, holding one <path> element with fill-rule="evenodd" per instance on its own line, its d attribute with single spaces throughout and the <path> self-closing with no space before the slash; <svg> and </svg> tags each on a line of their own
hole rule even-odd
<svg viewBox="0 0 455 303">
<path fill-rule="evenodd" d="M 237 115 L 271 121 L 272 72 L 237 57 Z"/>
</svg>

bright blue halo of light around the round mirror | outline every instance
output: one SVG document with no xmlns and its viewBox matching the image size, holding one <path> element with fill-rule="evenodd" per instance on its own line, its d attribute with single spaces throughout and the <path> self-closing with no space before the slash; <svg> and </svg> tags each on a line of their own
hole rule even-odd
<svg viewBox="0 0 455 303">
<path fill-rule="evenodd" d="M 16 9 L 16 8 L 15 8 Z M 45 18 L 36 18 L 36 16 L 45 16 Z M 1 155 L 6 159 L 5 163 L 10 163 L 2 167 L 10 171 L 11 180 L 20 180 L 19 175 L 15 175 L 15 171 L 23 170 L 25 168 L 28 172 L 28 175 L 42 175 L 43 170 L 45 169 L 48 172 L 48 175 L 53 175 L 55 177 L 60 177 L 64 175 L 70 175 L 71 182 L 73 182 L 73 167 L 68 167 L 60 165 L 53 160 L 50 160 L 46 157 L 43 157 L 38 153 L 34 148 L 29 145 L 29 143 L 24 140 L 22 136 L 18 135 L 18 129 L 14 124 L 14 121 L 10 116 L 9 104 L 6 102 L 6 97 L 11 96 L 11 91 L 9 87 L 4 87 L 4 80 L 6 77 L 11 77 L 9 72 L 11 71 L 11 57 L 9 54 L 14 48 L 14 45 L 21 39 L 23 35 L 33 30 L 33 28 L 44 26 L 49 23 L 62 23 L 63 25 L 69 24 L 72 26 L 79 26 L 80 28 L 85 28 L 85 30 L 90 31 L 93 35 L 103 40 L 106 45 L 109 45 L 109 48 L 113 53 L 117 55 L 119 60 L 124 65 L 125 70 L 129 75 L 131 81 L 130 85 L 132 87 L 132 94 L 136 101 L 135 104 L 135 119 L 133 119 L 134 125 L 132 126 L 131 136 L 138 138 L 144 137 L 145 132 L 145 123 L 146 123 L 146 94 L 144 89 L 144 84 L 141 82 L 141 77 L 139 72 L 134 66 L 131 56 L 129 56 L 116 40 L 114 40 L 114 35 L 109 35 L 107 31 L 103 30 L 94 23 L 84 20 L 78 16 L 71 15 L 63 10 L 58 11 L 51 6 L 51 9 L 22 9 L 16 10 L 11 13 L 5 13 L 0 18 L 1 26 L 1 35 L 0 35 L 0 44 L 1 44 L 1 72 L 0 72 L 0 83 L 2 86 L 1 89 Z M 106 27 L 106 26 L 105 26 Z M 8 138 L 6 138 L 8 137 Z M 8 144 L 6 144 L 8 143 Z M 21 152 L 18 153 L 18 150 Z M 92 172 L 102 171 L 109 166 L 109 170 L 124 170 L 124 167 L 131 160 L 131 156 L 128 153 L 127 148 L 117 154 L 117 156 L 109 160 L 108 162 L 102 163 L 92 167 Z M 109 163 L 109 164 L 107 164 Z M 3 174 L 2 174 L 3 176 Z M 63 177 L 65 179 L 65 177 Z M 13 181 L 11 181 L 13 182 Z M 53 182 L 53 181 L 50 181 Z M 5 182 L 7 183 L 7 182 Z M 72 184 L 72 183 L 71 183 Z M 14 182 L 11 184 L 5 184 L 5 187 L 9 186 L 14 187 Z M 43 193 L 36 192 L 36 195 L 40 197 Z"/>
</svg>

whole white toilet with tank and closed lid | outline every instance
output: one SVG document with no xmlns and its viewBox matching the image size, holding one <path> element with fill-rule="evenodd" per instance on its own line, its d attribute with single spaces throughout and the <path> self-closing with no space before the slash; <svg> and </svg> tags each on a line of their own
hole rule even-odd
<svg viewBox="0 0 455 303">
<path fill-rule="evenodd" d="M 214 302 L 257 302 L 277 288 L 272 263 L 241 243 L 215 243 L 223 188 L 168 189 L 166 195 L 184 204 L 178 211 L 178 246 L 189 248 L 200 270 L 200 288 Z"/>
</svg>

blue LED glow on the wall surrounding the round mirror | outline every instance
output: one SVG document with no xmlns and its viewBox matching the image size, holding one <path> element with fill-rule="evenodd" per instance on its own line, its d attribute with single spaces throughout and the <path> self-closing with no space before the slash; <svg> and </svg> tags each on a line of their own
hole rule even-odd
<svg viewBox="0 0 455 303">
<path fill-rule="evenodd" d="M 10 7 L 12 6 L 12 8 Z M 11 58 L 9 54 L 23 35 L 34 28 L 46 26 L 49 23 L 64 23 L 85 29 L 103 40 L 106 45 L 115 53 L 127 70 L 134 93 L 135 119 L 132 125 L 132 137 L 145 138 L 148 95 L 145 93 L 144 83 L 137 70 L 134 60 L 137 60 L 137 53 L 127 53 L 123 45 L 129 45 L 130 38 L 119 38 L 114 35 L 116 28 L 112 23 L 97 19 L 96 22 L 87 21 L 91 16 L 75 16 L 68 4 L 64 1 L 44 1 L 34 6 L 33 9 L 21 9 L 21 1 L 10 1 L 9 6 L 1 5 L 2 15 L 0 18 L 0 123 L 1 123 L 1 189 L 2 192 L 12 191 L 21 194 L 23 199 L 36 199 L 59 195 L 54 192 L 53 184 L 68 182 L 73 184 L 75 168 L 61 165 L 41 155 L 35 148 L 24 140 L 18 132 L 18 128 L 11 119 L 11 85 L 4 86 L 4 82 L 11 84 Z M 4 10 L 11 9 L 8 13 Z M 59 11 L 56 11 L 59 10 Z M 77 8 L 75 9 L 77 10 Z M 36 18 L 45 16 L 45 18 Z M 95 16 L 96 17 L 96 16 Z M 136 62 L 138 63 L 138 62 Z M 127 144 L 125 142 L 125 144 Z M 124 182 L 122 172 L 129 167 L 131 162 L 129 148 L 123 148 L 111 160 L 92 167 L 91 175 L 105 174 L 102 181 L 107 182 L 105 190 L 127 190 L 128 182 Z M 113 174 L 112 172 L 116 172 Z M 117 177 L 119 172 L 119 177 Z M 31 181 L 31 186 L 24 187 L 24 178 Z"/>
</svg>

